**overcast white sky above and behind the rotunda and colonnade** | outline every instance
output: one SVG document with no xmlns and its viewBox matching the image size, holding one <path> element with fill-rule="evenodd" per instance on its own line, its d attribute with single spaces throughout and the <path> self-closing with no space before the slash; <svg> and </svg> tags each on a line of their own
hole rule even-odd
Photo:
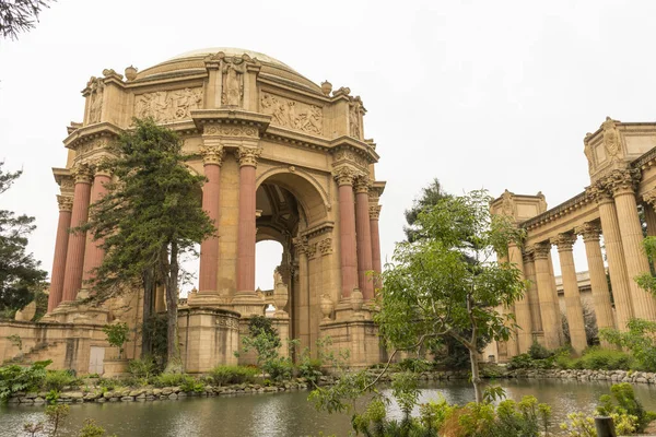
<svg viewBox="0 0 656 437">
<path fill-rule="evenodd" d="M 50 168 L 65 164 L 66 126 L 82 120 L 89 78 L 242 47 L 362 96 L 388 182 L 385 259 L 403 210 L 434 177 L 454 193 L 541 190 L 550 206 L 582 191 L 585 133 L 607 115 L 655 118 L 655 19 L 648 0 L 60 0 L 17 42 L 0 40 L 0 160 L 24 169 L 0 208 L 36 216 L 30 249 L 49 271 Z M 258 253 L 262 288 L 279 262 L 270 253 Z M 587 269 L 581 244 L 576 262 Z"/>
</svg>

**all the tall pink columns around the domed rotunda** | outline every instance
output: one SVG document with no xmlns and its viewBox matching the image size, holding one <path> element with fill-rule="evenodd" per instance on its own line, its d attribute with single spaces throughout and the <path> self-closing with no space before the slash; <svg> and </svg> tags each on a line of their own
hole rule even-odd
<svg viewBox="0 0 656 437">
<path fill-rule="evenodd" d="M 238 225 L 235 295 L 255 296 L 256 246 L 256 168 L 261 146 L 235 149 L 238 162 Z M 207 181 L 203 186 L 202 205 L 214 223 L 220 215 L 220 176 L 224 149 L 204 139 L 200 153 Z M 93 165 L 78 164 L 71 169 L 74 181 L 72 197 L 58 196 L 59 222 L 52 261 L 48 312 L 62 303 L 75 300 L 79 291 L 91 281 L 93 269 L 103 261 L 102 241 L 91 241 L 85 233 L 70 233 L 84 224 L 92 202 L 106 192 L 112 180 Z M 339 241 L 341 251 L 341 297 L 349 298 L 359 288 L 368 300 L 374 296 L 374 280 L 368 271 L 380 272 L 380 243 L 377 204 L 372 184 L 365 175 L 350 167 L 333 173 L 338 185 Z M 220 241 L 214 235 L 201 243 L 198 296 L 219 297 Z"/>
</svg>

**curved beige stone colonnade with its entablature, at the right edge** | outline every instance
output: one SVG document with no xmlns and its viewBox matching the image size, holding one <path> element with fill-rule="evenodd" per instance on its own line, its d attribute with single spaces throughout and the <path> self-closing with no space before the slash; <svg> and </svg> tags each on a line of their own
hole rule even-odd
<svg viewBox="0 0 656 437">
<path fill-rule="evenodd" d="M 656 320 L 656 299 L 634 281 L 639 274 L 649 272 L 642 249 L 639 209 L 644 211 L 647 234 L 656 235 L 656 123 L 621 122 L 607 117 L 583 142 L 590 185 L 582 192 L 549 210 L 541 193 L 520 196 L 506 190 L 492 203 L 493 213 L 514 217 L 527 233 L 522 247 L 509 248 L 511 260 L 523 269 L 529 288 L 513 308 L 519 326 L 513 341 L 492 345 L 500 361 L 526 352 L 534 340 L 548 347 L 563 344 L 552 246 L 560 258 L 562 310 L 567 317 L 572 346 L 576 352 L 586 347 L 581 277 L 572 255 L 578 237 L 585 246 L 589 303 L 597 326 L 624 330 L 631 318 Z"/>
</svg>

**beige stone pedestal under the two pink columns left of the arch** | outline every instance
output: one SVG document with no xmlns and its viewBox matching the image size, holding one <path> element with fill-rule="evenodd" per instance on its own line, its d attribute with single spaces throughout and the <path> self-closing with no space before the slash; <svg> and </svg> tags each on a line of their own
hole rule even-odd
<svg viewBox="0 0 656 437">
<path fill-rule="evenodd" d="M 178 310 L 178 335 L 185 371 L 201 374 L 219 365 L 236 366 L 239 314 L 225 309 Z"/>
</svg>

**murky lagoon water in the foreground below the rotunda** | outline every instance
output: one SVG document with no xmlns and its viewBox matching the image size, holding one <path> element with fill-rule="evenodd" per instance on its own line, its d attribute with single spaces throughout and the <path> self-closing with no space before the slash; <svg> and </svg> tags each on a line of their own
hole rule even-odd
<svg viewBox="0 0 656 437">
<path fill-rule="evenodd" d="M 591 412 L 610 383 L 572 380 L 509 379 L 499 383 L 508 398 L 531 394 L 552 406 L 554 424 L 574 411 Z M 635 392 L 645 406 L 656 410 L 656 387 L 636 385 Z M 179 436 L 347 436 L 351 429 L 345 414 L 317 412 L 307 402 L 307 391 L 283 393 L 186 398 L 177 401 L 113 402 L 71 404 L 71 414 L 61 435 L 73 436 L 85 418 L 94 418 L 107 435 L 118 437 Z M 421 402 L 444 397 L 450 403 L 473 400 L 467 381 L 433 382 L 423 386 Z M 390 414 L 398 415 L 395 404 Z M 24 435 L 23 424 L 43 420 L 44 406 L 0 406 L 0 437 Z"/>
</svg>

